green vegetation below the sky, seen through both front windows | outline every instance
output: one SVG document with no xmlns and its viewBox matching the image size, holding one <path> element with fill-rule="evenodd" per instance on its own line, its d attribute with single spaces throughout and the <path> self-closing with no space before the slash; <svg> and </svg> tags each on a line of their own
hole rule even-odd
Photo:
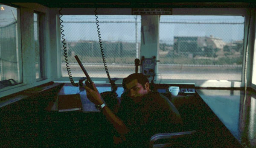
<svg viewBox="0 0 256 148">
<path fill-rule="evenodd" d="M 105 60 L 107 63 L 115 64 L 134 64 L 136 59 L 136 45 L 135 43 L 127 42 L 104 42 Z M 187 47 L 189 48 L 189 47 Z M 160 49 L 163 51 L 169 51 L 166 55 L 160 55 L 160 64 L 209 64 L 209 65 L 241 65 L 242 56 L 234 56 L 230 51 L 229 54 L 225 54 L 225 57 L 219 57 L 216 55 L 220 49 L 212 49 L 204 47 L 204 51 L 199 52 L 193 50 L 179 51 L 177 53 L 172 45 L 165 43 L 160 44 Z M 227 52 L 225 47 L 225 52 Z M 76 63 L 75 55 L 79 55 L 84 63 L 102 63 L 101 51 L 99 44 L 96 41 L 79 41 L 68 42 L 67 44 L 67 56 L 70 63 Z M 63 54 L 63 51 L 62 51 Z M 62 56 L 62 62 L 64 62 L 64 56 Z"/>
</svg>

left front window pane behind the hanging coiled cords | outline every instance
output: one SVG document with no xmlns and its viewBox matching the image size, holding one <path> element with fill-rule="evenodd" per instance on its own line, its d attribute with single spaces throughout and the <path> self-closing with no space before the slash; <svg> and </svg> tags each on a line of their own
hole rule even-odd
<svg viewBox="0 0 256 148">
<path fill-rule="evenodd" d="M 140 55 L 140 16 L 99 15 L 99 31 L 105 60 L 111 77 L 124 78 L 134 73 L 134 59 Z M 64 15 L 63 34 L 72 76 L 84 77 L 74 58 L 83 63 L 91 77 L 107 77 L 94 15 Z M 63 39 L 61 39 L 61 42 Z M 64 50 L 61 43 L 61 75 L 67 77 Z"/>
</svg>

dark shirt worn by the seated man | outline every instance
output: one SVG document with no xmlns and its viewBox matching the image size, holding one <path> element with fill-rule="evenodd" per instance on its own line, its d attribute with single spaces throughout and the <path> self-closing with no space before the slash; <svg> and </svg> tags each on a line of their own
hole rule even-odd
<svg viewBox="0 0 256 148">
<path fill-rule="evenodd" d="M 181 131 L 179 112 L 159 92 L 149 92 L 138 103 L 123 96 L 117 116 L 130 129 L 122 146 L 146 146 L 154 134 Z"/>
</svg>

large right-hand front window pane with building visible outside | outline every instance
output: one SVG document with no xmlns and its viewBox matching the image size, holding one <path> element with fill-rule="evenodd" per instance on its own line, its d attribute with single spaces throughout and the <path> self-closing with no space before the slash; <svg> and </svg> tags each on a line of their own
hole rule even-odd
<svg viewBox="0 0 256 148">
<path fill-rule="evenodd" d="M 242 16 L 161 16 L 159 77 L 241 81 Z"/>
</svg>

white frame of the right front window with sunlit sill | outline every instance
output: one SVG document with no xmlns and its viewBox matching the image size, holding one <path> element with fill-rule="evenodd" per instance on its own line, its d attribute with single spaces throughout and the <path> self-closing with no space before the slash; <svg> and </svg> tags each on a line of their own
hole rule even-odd
<svg viewBox="0 0 256 148">
<path fill-rule="evenodd" d="M 248 16 L 247 8 L 173 8 L 173 15 L 241 15 Z M 246 41 L 246 28 L 248 21 L 244 21 L 244 43 Z M 245 44 L 244 44 L 245 45 Z M 250 42 L 248 42 L 250 45 Z M 243 47 L 244 49 L 244 47 Z M 245 50 L 243 51 L 243 55 Z M 244 61 L 244 56 L 243 56 Z M 241 81 L 227 80 L 157 80 L 156 83 L 174 83 L 174 84 L 195 84 L 195 87 L 244 87 L 244 62 L 242 64 Z M 248 79 L 248 78 L 247 78 Z"/>
</svg>

